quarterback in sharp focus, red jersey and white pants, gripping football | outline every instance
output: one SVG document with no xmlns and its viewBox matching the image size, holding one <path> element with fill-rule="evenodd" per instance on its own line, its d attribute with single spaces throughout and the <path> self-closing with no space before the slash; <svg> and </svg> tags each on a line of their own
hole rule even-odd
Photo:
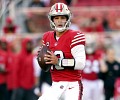
<svg viewBox="0 0 120 100">
<path fill-rule="evenodd" d="M 85 35 L 68 29 L 71 12 L 64 3 L 54 4 L 48 14 L 51 28 L 43 36 L 49 49 L 44 59 L 51 66 L 52 86 L 38 100 L 81 100 L 81 71 L 85 67 Z"/>
</svg>

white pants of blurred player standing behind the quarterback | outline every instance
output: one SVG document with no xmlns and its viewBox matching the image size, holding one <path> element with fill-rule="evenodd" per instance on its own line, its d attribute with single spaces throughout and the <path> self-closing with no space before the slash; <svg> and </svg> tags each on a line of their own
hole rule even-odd
<svg viewBox="0 0 120 100">
<path fill-rule="evenodd" d="M 82 100 L 104 100 L 103 82 L 101 80 L 82 80 Z"/>
</svg>

